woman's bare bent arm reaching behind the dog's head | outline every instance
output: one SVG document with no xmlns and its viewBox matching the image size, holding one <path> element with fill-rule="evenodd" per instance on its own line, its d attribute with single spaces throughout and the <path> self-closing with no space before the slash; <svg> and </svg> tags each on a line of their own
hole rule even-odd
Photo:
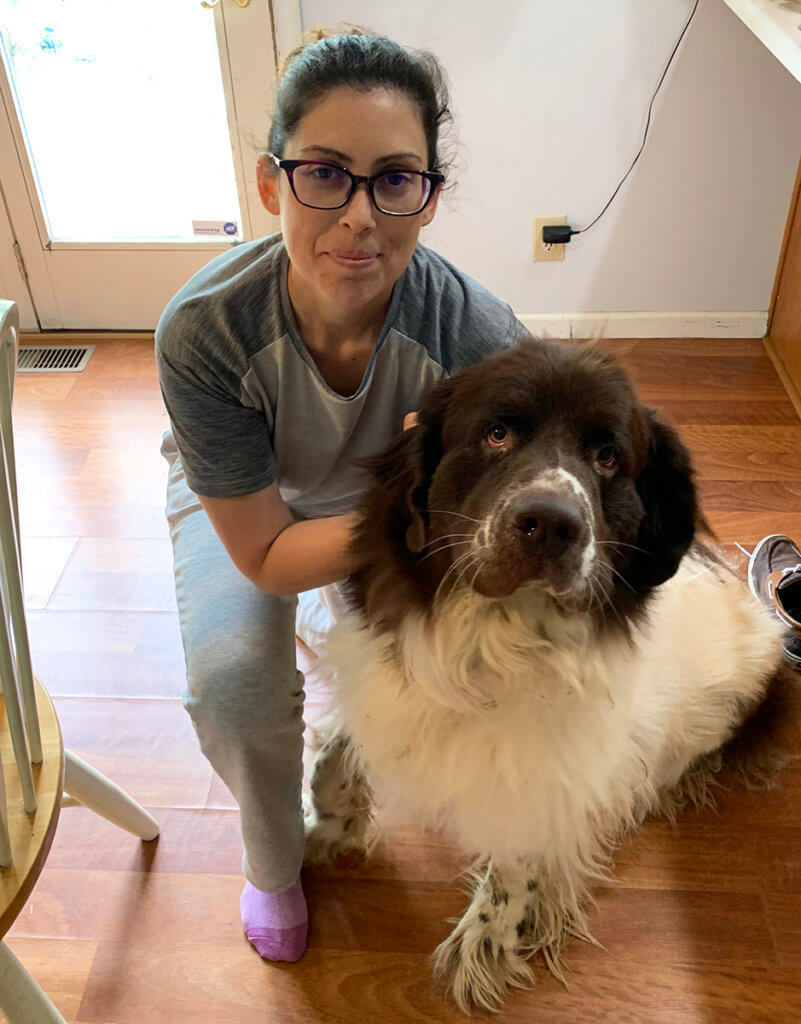
<svg viewBox="0 0 801 1024">
<path fill-rule="evenodd" d="M 237 568 L 266 594 L 297 594 L 342 580 L 353 516 L 295 522 L 278 483 L 239 498 L 200 498 Z"/>
</svg>

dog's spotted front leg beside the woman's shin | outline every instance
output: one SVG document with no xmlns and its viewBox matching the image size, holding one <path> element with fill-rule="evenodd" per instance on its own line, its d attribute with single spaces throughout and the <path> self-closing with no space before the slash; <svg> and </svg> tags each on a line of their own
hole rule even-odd
<svg viewBox="0 0 801 1024">
<path fill-rule="evenodd" d="M 372 800 L 352 745 L 335 719 L 312 730 L 311 792 L 303 798 L 304 862 L 325 863 L 347 850 L 367 852 Z"/>
</svg>

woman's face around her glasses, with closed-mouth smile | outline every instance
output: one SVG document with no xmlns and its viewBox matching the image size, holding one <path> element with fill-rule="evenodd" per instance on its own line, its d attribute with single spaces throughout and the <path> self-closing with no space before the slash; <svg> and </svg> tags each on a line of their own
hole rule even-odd
<svg viewBox="0 0 801 1024">
<path fill-rule="evenodd" d="M 418 111 L 403 93 L 389 89 L 329 92 L 301 120 L 283 156 L 328 161 L 353 174 L 428 170 Z M 277 176 L 275 165 L 264 158 L 259 191 L 267 210 L 281 217 L 293 302 L 300 300 L 306 312 L 318 309 L 345 319 L 389 301 L 438 198 L 434 195 L 414 216 L 392 217 L 376 210 L 361 184 L 347 206 L 314 210 L 298 203 L 286 173 Z"/>
</svg>

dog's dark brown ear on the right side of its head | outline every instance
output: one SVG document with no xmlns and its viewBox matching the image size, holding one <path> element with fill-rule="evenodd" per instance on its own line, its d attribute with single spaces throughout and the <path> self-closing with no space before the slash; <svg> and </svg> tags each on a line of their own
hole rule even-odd
<svg viewBox="0 0 801 1024">
<path fill-rule="evenodd" d="M 638 592 L 673 575 L 703 522 L 689 452 L 651 409 L 645 410 L 645 424 L 647 455 L 635 480 L 645 516 L 637 535 L 639 550 L 626 570 Z"/>
</svg>

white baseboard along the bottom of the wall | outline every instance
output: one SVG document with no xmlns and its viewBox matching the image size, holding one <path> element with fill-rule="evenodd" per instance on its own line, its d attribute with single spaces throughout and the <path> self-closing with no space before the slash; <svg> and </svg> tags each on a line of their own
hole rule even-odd
<svg viewBox="0 0 801 1024">
<path fill-rule="evenodd" d="M 767 312 L 517 313 L 547 338 L 764 338 Z"/>
</svg>

